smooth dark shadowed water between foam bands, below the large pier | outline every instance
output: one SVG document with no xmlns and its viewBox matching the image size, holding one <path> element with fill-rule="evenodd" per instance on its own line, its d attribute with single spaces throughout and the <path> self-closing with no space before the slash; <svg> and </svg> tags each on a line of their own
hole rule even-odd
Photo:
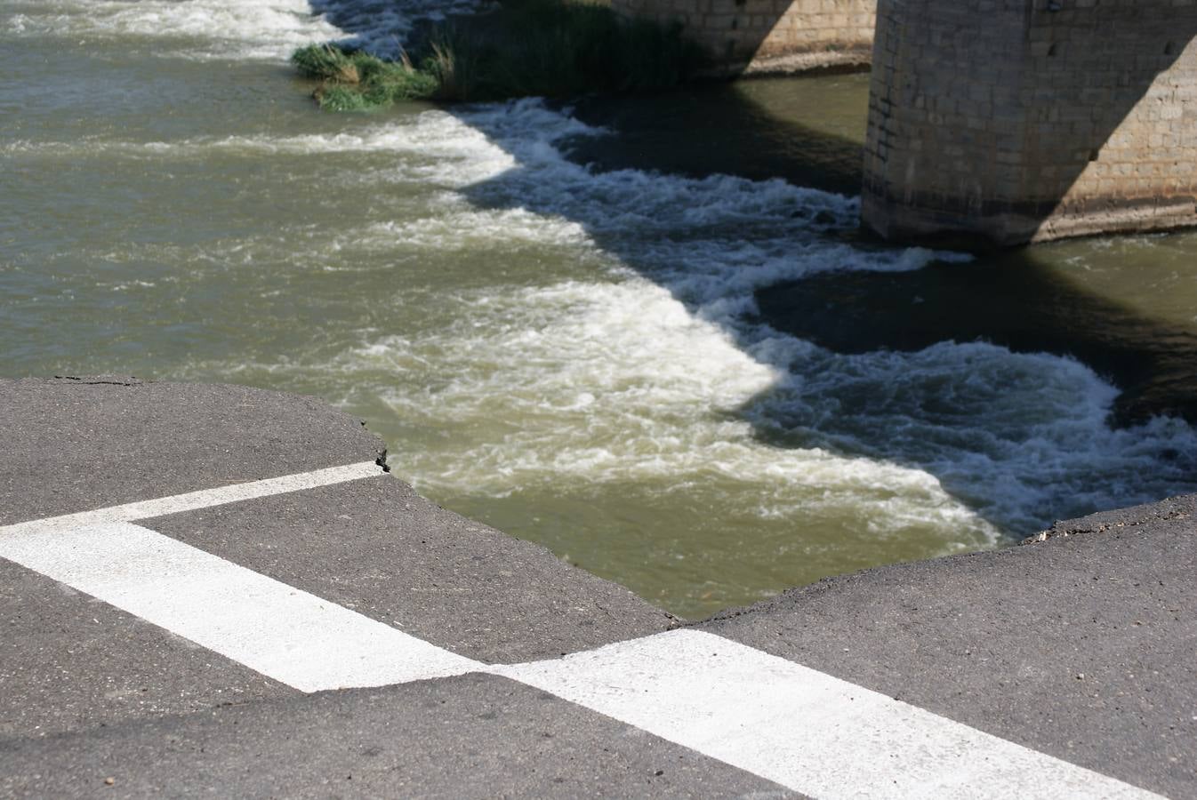
<svg viewBox="0 0 1197 800">
<path fill-rule="evenodd" d="M 837 353 L 922 350 L 947 340 L 1071 356 L 1120 393 L 1111 422 L 1197 423 L 1197 330 L 1083 292 L 1034 249 L 910 273 L 833 273 L 757 295 L 770 325 Z"/>
</svg>

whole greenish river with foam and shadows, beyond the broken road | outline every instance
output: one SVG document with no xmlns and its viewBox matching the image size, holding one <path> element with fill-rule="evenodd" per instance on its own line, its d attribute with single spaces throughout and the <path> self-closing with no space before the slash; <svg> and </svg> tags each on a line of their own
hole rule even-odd
<svg viewBox="0 0 1197 800">
<path fill-rule="evenodd" d="M 330 18 L 0 0 L 0 374 L 317 395 L 687 617 L 1197 490 L 1197 237 L 869 243 L 862 77 L 322 114 Z"/>
</svg>

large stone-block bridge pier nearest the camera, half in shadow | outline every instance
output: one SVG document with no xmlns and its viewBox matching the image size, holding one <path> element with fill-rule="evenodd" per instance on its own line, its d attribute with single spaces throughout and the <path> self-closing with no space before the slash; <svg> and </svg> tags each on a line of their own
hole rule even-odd
<svg viewBox="0 0 1197 800">
<path fill-rule="evenodd" d="M 880 0 L 862 210 L 1001 244 L 1197 225 L 1197 0 Z"/>
</svg>

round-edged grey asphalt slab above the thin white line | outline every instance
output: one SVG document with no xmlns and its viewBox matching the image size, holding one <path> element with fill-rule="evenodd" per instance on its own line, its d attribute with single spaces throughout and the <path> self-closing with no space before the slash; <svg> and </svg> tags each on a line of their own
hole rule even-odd
<svg viewBox="0 0 1197 800">
<path fill-rule="evenodd" d="M 381 458 L 320 401 L 133 378 L 0 379 L 0 525 Z"/>
</svg>

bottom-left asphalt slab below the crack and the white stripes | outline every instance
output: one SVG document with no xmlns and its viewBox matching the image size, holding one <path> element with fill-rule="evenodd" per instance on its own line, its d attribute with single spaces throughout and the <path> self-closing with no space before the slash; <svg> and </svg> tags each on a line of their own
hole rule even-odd
<svg viewBox="0 0 1197 800">
<path fill-rule="evenodd" d="M 481 674 L 0 741 L 0 764 L 6 798 L 800 796 Z"/>
</svg>

